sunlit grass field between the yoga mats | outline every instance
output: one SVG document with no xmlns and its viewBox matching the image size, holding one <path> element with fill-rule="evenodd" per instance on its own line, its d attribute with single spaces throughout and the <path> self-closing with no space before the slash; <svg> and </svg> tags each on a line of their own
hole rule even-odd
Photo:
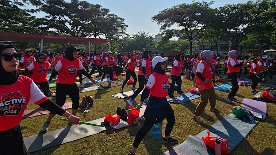
<svg viewBox="0 0 276 155">
<path fill-rule="evenodd" d="M 125 76 L 118 77 L 121 80 L 125 79 Z M 245 77 L 244 77 L 245 78 Z M 97 78 L 96 78 L 97 79 Z M 85 80 L 85 79 L 84 79 Z M 171 80 L 171 79 L 169 79 Z M 191 80 L 182 79 L 182 91 L 185 93 L 188 92 L 188 89 L 191 88 Z M 107 82 L 103 82 L 103 85 Z M 91 84 L 85 84 L 85 87 L 89 87 Z M 94 84 L 95 85 L 95 84 Z M 125 86 L 124 91 L 131 90 L 131 85 Z M 138 83 L 136 84 L 138 87 Z M 118 106 L 127 108 L 127 99 L 114 98 L 110 95 L 119 93 L 120 86 L 112 87 L 102 90 L 93 90 L 85 93 L 80 93 L 80 97 L 85 95 L 91 95 L 94 97 L 94 106 L 90 109 L 91 111 L 84 115 L 84 109 L 81 108 L 78 111 L 77 116 L 80 117 L 82 121 L 95 120 L 101 117 L 107 116 L 109 113 L 112 115 L 116 114 L 116 109 Z M 55 90 L 52 89 L 52 90 Z M 260 90 L 260 87 L 257 87 L 257 90 Z M 228 103 L 225 98 L 229 94 L 227 91 L 218 91 L 215 90 L 217 94 L 217 108 L 222 112 L 215 114 L 209 111 L 210 105 L 208 104 L 205 108 L 205 112 L 200 116 L 203 123 L 199 124 L 192 120 L 195 108 L 200 101 L 200 98 L 197 98 L 192 101 L 186 102 L 186 105 L 176 105 L 171 104 L 172 109 L 174 110 L 174 115 L 176 122 L 172 130 L 171 136 L 175 139 L 178 139 L 179 144 L 184 142 L 188 135 L 197 135 L 205 128 L 213 125 L 222 117 L 229 114 L 226 109 L 231 109 L 235 105 L 240 105 L 243 98 L 252 98 L 253 94 L 250 93 L 251 89 L 247 87 L 240 87 L 236 98 L 239 99 L 238 102 L 234 104 Z M 179 94 L 174 93 L 175 96 Z M 140 95 L 135 99 L 137 102 L 140 101 Z M 55 101 L 55 97 L 50 97 L 52 101 Z M 71 101 L 67 96 L 66 101 Z M 29 104 L 27 109 L 34 109 L 38 107 L 35 104 Z M 253 130 L 244 138 L 240 144 L 230 153 L 231 155 L 240 155 L 240 154 L 263 154 L 263 155 L 272 155 L 276 154 L 276 105 L 272 103 L 267 104 L 267 116 L 264 121 L 260 121 Z M 71 112 L 71 109 L 67 111 Z M 85 116 L 85 117 L 84 117 Z M 31 117 L 22 120 L 20 123 L 23 137 L 37 135 L 41 131 L 41 127 L 44 121 L 47 119 L 48 115 Z M 59 121 L 60 116 L 55 116 L 49 126 L 49 131 L 60 129 L 68 125 L 67 122 Z M 144 121 L 140 121 L 138 124 L 129 126 L 127 128 L 122 128 L 119 130 L 107 130 L 99 134 L 88 136 L 73 142 L 69 142 L 60 146 L 55 146 L 49 149 L 44 149 L 31 155 L 47 155 L 47 154 L 57 154 L 57 155 L 86 155 L 86 154 L 101 154 L 101 155 L 126 155 L 128 150 L 132 147 L 135 135 L 138 129 L 143 125 Z M 165 132 L 166 120 L 163 123 L 159 124 L 159 130 L 162 135 Z M 172 144 L 163 144 L 161 142 L 161 134 L 159 137 L 155 138 L 153 136 L 153 128 L 146 135 L 144 140 L 141 142 L 139 148 L 137 149 L 137 155 L 158 155 L 167 151 L 168 149 L 173 148 L 175 145 Z"/>
</svg>

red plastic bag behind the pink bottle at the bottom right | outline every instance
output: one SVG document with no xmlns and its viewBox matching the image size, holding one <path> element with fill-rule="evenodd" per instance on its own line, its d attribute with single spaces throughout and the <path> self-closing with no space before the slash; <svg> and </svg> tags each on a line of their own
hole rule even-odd
<svg viewBox="0 0 276 155">
<path fill-rule="evenodd" d="M 216 138 L 219 137 L 210 137 L 210 132 L 207 131 L 207 136 L 205 138 L 202 137 L 203 142 L 209 146 L 211 149 L 215 150 L 215 141 Z M 221 149 L 221 153 L 222 154 L 229 154 L 229 143 L 227 141 L 227 139 L 224 138 L 219 138 L 220 139 L 220 149 Z"/>
</svg>

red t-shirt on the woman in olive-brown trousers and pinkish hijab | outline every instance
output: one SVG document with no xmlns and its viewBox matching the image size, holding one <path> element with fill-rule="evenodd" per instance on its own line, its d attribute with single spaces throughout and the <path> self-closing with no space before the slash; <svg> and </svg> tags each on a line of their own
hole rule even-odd
<svg viewBox="0 0 276 155">
<path fill-rule="evenodd" d="M 205 79 L 209 79 L 209 80 L 213 79 L 212 69 L 203 61 L 199 61 L 197 65 L 197 73 L 201 73 L 201 75 Z M 203 83 L 203 82 L 204 81 L 202 81 L 198 76 L 196 77 L 197 88 L 199 90 L 205 90 L 213 87 L 212 81 L 210 81 L 209 83 Z"/>
</svg>

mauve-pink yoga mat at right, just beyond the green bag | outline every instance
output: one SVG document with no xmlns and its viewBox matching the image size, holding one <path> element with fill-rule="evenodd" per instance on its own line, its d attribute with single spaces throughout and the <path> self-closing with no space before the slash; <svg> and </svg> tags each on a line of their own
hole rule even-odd
<svg viewBox="0 0 276 155">
<path fill-rule="evenodd" d="M 244 98 L 240 106 L 243 106 L 244 108 L 252 110 L 256 113 L 263 114 L 264 118 L 262 120 L 266 118 L 266 111 L 267 111 L 266 102 Z"/>
</svg>

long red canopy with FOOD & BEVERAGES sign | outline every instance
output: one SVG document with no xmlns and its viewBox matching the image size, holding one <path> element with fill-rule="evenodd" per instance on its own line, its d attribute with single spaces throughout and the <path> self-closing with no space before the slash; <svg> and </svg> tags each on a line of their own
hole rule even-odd
<svg viewBox="0 0 276 155">
<path fill-rule="evenodd" d="M 96 39 L 96 38 L 81 38 L 81 37 L 67 37 L 67 36 L 53 36 L 53 35 L 33 35 L 23 33 L 9 33 L 0 32 L 0 42 L 31 42 L 40 43 L 40 53 L 42 53 L 44 43 L 55 43 L 55 44 L 83 44 L 89 45 L 106 45 L 109 44 L 110 50 L 110 39 Z"/>
</svg>

